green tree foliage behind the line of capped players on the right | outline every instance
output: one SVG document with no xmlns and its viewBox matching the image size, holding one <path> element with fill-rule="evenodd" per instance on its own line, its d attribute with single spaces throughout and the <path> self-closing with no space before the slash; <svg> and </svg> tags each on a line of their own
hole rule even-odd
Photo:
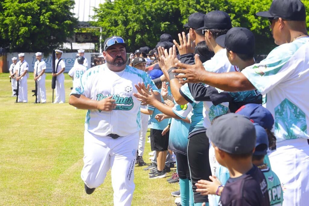
<svg viewBox="0 0 309 206">
<path fill-rule="evenodd" d="M 273 43 L 268 20 L 255 14 L 267 11 L 272 0 L 108 0 L 95 9 L 94 25 L 103 28 L 103 40 L 112 35 L 125 38 L 129 50 L 142 46 L 155 47 L 159 36 L 169 33 L 178 39 L 177 33 L 184 31 L 183 24 L 194 12 L 207 13 L 225 11 L 231 16 L 234 27 L 247 27 L 256 38 L 256 53 L 267 54 L 276 45 Z M 307 8 L 309 27 L 309 1 Z"/>
</svg>

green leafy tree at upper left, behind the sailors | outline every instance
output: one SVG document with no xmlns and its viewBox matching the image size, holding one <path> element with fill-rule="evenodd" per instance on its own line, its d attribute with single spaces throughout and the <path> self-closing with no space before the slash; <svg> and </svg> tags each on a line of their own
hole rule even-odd
<svg viewBox="0 0 309 206">
<path fill-rule="evenodd" d="M 0 47 L 51 52 L 74 34 L 74 0 L 0 0 Z"/>
</svg>

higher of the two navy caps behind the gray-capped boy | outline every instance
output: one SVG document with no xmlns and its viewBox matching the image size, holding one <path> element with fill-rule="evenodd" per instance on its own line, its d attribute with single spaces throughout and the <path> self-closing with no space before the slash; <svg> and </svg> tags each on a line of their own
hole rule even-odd
<svg viewBox="0 0 309 206">
<path fill-rule="evenodd" d="M 261 104 L 246 104 L 240 107 L 235 113 L 248 117 L 253 123 L 257 123 L 269 131 L 272 130 L 274 119 L 268 109 Z"/>
</svg>

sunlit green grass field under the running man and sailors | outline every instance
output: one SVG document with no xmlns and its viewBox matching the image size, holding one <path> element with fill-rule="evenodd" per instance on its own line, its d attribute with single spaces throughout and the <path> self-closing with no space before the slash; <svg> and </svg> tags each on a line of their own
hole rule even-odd
<svg viewBox="0 0 309 206">
<path fill-rule="evenodd" d="M 110 172 L 92 195 L 84 191 L 80 171 L 86 112 L 67 103 L 72 80 L 65 76 L 66 103 L 51 104 L 47 74 L 47 103 L 33 104 L 32 74 L 28 103 L 14 103 L 8 74 L 0 74 L 0 205 L 113 205 Z M 150 163 L 149 152 L 146 143 L 146 163 Z M 175 205 L 170 192 L 179 185 L 148 177 L 142 167 L 135 167 L 132 205 Z"/>
</svg>

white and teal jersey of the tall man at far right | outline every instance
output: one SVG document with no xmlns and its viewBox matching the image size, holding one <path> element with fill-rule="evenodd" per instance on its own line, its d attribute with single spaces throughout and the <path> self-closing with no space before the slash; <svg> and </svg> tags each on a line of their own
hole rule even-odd
<svg viewBox="0 0 309 206">
<path fill-rule="evenodd" d="M 303 37 L 274 48 L 258 64 L 241 72 L 266 95 L 277 141 L 309 139 L 309 38 Z"/>
</svg>

